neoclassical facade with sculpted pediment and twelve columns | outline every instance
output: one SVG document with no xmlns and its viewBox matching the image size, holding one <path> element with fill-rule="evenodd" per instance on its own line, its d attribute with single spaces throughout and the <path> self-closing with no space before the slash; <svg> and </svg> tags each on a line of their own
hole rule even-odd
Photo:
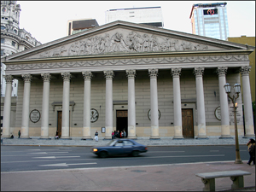
<svg viewBox="0 0 256 192">
<path fill-rule="evenodd" d="M 248 55 L 254 47 L 114 21 L 9 55 L 3 136 L 91 139 L 234 137 L 224 84 L 240 82 L 240 137 L 254 137 Z M 15 127 L 11 82 L 19 80 Z M 242 111 L 244 108 L 244 117 Z M 244 119 L 244 120 L 243 120 Z"/>
</svg>

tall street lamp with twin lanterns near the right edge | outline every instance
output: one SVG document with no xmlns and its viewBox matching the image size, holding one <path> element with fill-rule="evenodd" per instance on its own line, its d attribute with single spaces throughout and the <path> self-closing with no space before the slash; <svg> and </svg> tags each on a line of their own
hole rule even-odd
<svg viewBox="0 0 256 192">
<path fill-rule="evenodd" d="M 224 89 L 226 91 L 226 93 L 228 94 L 229 98 L 231 99 L 232 103 L 233 103 L 233 108 L 234 108 L 234 120 L 235 120 L 235 137 L 236 137 L 236 160 L 235 163 L 237 164 L 241 164 L 241 158 L 240 158 L 240 153 L 239 153 L 239 143 L 238 143 L 238 133 L 237 133 L 237 121 L 236 121 L 236 99 L 239 96 L 240 90 L 241 90 L 241 86 L 240 84 L 235 84 L 234 85 L 234 90 L 236 92 L 236 95 L 230 96 L 230 90 L 231 90 L 231 86 L 230 84 L 225 84 L 224 85 Z"/>
</svg>

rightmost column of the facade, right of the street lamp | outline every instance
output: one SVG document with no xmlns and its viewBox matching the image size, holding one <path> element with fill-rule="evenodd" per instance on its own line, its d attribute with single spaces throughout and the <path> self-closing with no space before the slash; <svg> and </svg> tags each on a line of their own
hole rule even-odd
<svg viewBox="0 0 256 192">
<path fill-rule="evenodd" d="M 242 101 L 244 107 L 244 120 L 245 120 L 245 136 L 255 137 L 253 127 L 253 107 L 252 107 L 252 95 L 249 73 L 251 66 L 241 67 L 241 79 L 242 79 Z"/>
</svg>

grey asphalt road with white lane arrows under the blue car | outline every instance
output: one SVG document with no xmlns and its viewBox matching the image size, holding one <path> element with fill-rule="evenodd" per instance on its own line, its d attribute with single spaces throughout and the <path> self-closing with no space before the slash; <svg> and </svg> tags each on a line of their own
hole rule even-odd
<svg viewBox="0 0 256 192">
<path fill-rule="evenodd" d="M 240 146 L 241 160 L 249 159 Z M 1 146 L 1 172 L 73 169 L 109 166 L 149 166 L 236 160 L 235 146 L 148 147 L 138 157 L 97 157 L 90 147 Z"/>
</svg>

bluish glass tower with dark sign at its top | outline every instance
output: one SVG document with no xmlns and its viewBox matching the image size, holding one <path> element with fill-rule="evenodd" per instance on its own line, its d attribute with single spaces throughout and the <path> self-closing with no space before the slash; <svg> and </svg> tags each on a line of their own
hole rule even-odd
<svg viewBox="0 0 256 192">
<path fill-rule="evenodd" d="M 193 4 L 190 17 L 192 33 L 226 40 L 229 37 L 227 3 Z"/>
</svg>

